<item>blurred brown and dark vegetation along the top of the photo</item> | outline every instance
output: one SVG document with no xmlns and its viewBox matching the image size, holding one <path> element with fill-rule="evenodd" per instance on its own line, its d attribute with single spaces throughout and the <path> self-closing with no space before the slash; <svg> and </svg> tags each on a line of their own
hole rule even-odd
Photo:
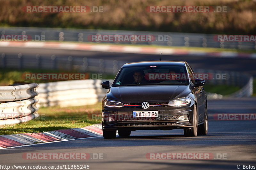
<svg viewBox="0 0 256 170">
<path fill-rule="evenodd" d="M 0 26 L 255 34 L 252 0 L 0 0 Z M 23 6 L 103 6 L 96 13 L 26 13 Z M 227 13 L 148 13 L 159 6 L 228 6 Z"/>
</svg>

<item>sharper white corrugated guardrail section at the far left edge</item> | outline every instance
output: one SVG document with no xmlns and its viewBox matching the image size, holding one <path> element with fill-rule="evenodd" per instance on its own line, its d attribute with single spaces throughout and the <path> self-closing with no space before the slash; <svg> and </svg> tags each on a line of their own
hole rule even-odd
<svg viewBox="0 0 256 170">
<path fill-rule="evenodd" d="M 38 117 L 35 98 L 37 83 L 0 86 L 0 127 Z"/>
</svg>

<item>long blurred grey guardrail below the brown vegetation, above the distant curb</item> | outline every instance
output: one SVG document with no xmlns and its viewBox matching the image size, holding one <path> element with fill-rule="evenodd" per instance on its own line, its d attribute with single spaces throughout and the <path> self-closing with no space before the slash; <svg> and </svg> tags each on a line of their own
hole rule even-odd
<svg viewBox="0 0 256 170">
<path fill-rule="evenodd" d="M 33 27 L 0 27 L 2 35 L 30 35 L 44 36 L 45 41 L 76 41 L 90 42 L 90 35 L 153 35 L 157 41 L 150 42 L 122 42 L 122 44 L 147 44 L 185 47 L 211 47 L 211 48 L 237 48 L 256 49 L 256 42 L 219 42 L 213 40 L 213 34 L 201 33 L 171 33 L 148 31 L 122 31 L 122 30 L 90 30 L 90 29 L 64 29 L 64 28 L 33 28 Z M 168 41 L 161 41 L 167 36 Z M 105 43 L 105 42 L 100 42 Z M 119 43 L 119 42 L 107 42 Z M 121 42 L 120 42 L 121 43 Z"/>
</svg>

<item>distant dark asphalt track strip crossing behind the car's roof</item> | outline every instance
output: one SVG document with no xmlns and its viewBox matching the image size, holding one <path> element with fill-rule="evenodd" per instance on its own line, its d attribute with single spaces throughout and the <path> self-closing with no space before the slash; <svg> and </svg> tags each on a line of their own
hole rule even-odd
<svg viewBox="0 0 256 170">
<path fill-rule="evenodd" d="M 160 60 L 160 55 L 132 54 L 132 53 L 115 53 L 115 52 L 95 52 L 65 49 L 44 49 L 44 48 L 17 48 L 17 47 L 0 47 L 0 53 L 6 55 L 23 55 L 35 57 L 36 54 L 41 56 L 56 55 L 56 57 L 87 57 L 108 60 L 119 60 L 124 62 Z M 193 69 L 212 69 L 239 71 L 256 76 L 256 59 L 251 58 L 221 58 L 196 55 L 162 55 L 162 60 L 187 61 Z"/>
</svg>

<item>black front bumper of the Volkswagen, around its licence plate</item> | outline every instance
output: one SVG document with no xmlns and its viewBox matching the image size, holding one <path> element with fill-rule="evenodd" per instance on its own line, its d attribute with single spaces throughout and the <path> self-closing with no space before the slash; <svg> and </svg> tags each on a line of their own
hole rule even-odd
<svg viewBox="0 0 256 170">
<path fill-rule="evenodd" d="M 102 107 L 102 127 L 105 130 L 142 130 L 142 129 L 190 129 L 193 127 L 194 104 L 185 107 L 149 107 L 148 109 L 121 107 Z M 158 111 L 158 117 L 133 118 L 133 111 Z M 187 115 L 188 121 L 177 120 L 180 115 Z"/>
</svg>

